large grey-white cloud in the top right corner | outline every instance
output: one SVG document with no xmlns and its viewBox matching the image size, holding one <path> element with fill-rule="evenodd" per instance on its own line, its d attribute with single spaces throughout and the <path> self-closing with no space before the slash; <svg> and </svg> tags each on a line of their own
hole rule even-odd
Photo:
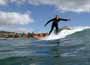
<svg viewBox="0 0 90 65">
<path fill-rule="evenodd" d="M 90 0 L 64 0 L 56 4 L 59 10 L 72 12 L 90 12 Z"/>
</svg>

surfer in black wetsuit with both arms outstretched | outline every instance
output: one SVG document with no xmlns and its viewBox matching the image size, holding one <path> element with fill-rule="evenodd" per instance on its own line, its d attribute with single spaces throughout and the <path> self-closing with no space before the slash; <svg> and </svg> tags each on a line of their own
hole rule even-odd
<svg viewBox="0 0 90 65">
<path fill-rule="evenodd" d="M 59 27 L 58 27 L 58 22 L 59 21 L 69 21 L 70 19 L 63 19 L 60 16 L 56 15 L 53 19 L 50 19 L 44 26 L 46 26 L 48 23 L 52 22 L 52 26 L 51 26 L 51 30 L 49 31 L 49 35 L 51 34 L 51 32 L 53 31 L 53 29 L 55 28 L 55 32 L 56 34 L 59 31 Z"/>
</svg>

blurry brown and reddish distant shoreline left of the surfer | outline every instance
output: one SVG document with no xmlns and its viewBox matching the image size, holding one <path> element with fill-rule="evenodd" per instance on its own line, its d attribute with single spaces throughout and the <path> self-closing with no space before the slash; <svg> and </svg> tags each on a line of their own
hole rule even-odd
<svg viewBox="0 0 90 65">
<path fill-rule="evenodd" d="M 8 32 L 0 31 L 0 40 L 6 39 L 40 39 L 47 36 L 48 33 L 17 33 L 17 32 Z"/>
</svg>

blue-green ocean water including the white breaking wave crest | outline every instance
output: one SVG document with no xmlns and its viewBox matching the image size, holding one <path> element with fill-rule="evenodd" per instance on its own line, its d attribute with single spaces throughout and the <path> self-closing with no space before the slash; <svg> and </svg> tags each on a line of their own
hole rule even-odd
<svg viewBox="0 0 90 65">
<path fill-rule="evenodd" d="M 60 34 L 43 40 L 1 39 L 0 65 L 90 65 L 90 29 Z"/>
</svg>

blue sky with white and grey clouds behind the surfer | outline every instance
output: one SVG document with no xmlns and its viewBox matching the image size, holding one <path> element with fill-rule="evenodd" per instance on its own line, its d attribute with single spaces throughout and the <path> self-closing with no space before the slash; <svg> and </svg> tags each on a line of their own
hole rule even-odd
<svg viewBox="0 0 90 65">
<path fill-rule="evenodd" d="M 90 0 L 0 0 L 0 30 L 13 32 L 48 32 L 59 15 L 71 19 L 63 26 L 90 26 Z"/>
</svg>

